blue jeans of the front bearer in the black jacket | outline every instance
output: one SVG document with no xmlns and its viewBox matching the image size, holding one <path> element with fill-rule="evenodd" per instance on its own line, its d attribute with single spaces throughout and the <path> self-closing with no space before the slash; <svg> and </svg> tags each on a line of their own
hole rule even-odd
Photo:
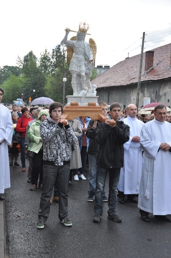
<svg viewBox="0 0 171 258">
<path fill-rule="evenodd" d="M 116 213 L 117 204 L 117 187 L 120 176 L 120 168 L 101 168 L 97 167 L 96 178 L 96 194 L 94 211 L 103 214 L 103 191 L 105 188 L 105 181 L 109 171 L 109 198 L 108 198 L 108 214 L 114 215 Z"/>
</svg>

